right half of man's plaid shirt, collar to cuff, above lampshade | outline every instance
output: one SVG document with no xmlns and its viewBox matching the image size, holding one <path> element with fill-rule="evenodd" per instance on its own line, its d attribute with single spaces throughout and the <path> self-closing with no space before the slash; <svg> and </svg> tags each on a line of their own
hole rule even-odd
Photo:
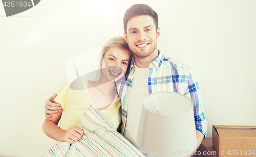
<svg viewBox="0 0 256 157">
<path fill-rule="evenodd" d="M 154 88 L 156 89 L 156 87 L 159 87 L 161 84 L 160 87 L 165 89 L 165 91 L 178 92 L 189 97 L 193 103 L 196 129 L 199 130 L 205 138 L 207 133 L 207 121 L 204 116 L 201 92 L 193 70 L 185 64 L 165 57 L 162 53 L 159 54 L 153 64 L 157 72 L 154 76 L 155 78 L 149 79 L 155 80 L 155 82 L 148 83 L 152 86 L 152 88 L 149 86 L 149 92 L 156 92 Z M 156 78 L 162 76 L 164 76 L 165 82 L 156 83 L 157 80 L 159 80 Z"/>
</svg>

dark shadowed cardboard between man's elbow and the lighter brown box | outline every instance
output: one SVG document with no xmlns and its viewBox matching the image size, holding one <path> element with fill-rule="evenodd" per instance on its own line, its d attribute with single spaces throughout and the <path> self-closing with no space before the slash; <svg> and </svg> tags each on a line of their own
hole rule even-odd
<svg viewBox="0 0 256 157">
<path fill-rule="evenodd" d="M 205 138 L 198 147 L 196 156 L 217 157 L 217 152 L 212 147 L 212 138 Z"/>
</svg>

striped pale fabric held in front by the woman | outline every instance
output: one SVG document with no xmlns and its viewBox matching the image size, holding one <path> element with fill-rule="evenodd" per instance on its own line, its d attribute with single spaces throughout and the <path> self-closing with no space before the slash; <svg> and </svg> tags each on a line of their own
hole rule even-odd
<svg viewBox="0 0 256 157">
<path fill-rule="evenodd" d="M 78 141 L 57 143 L 43 156 L 144 156 L 92 105 L 77 126 L 83 130 Z"/>
</svg>

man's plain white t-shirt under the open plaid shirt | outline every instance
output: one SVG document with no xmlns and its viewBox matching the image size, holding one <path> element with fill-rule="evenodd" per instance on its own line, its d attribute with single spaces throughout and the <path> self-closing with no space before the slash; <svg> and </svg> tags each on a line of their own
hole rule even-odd
<svg viewBox="0 0 256 157">
<path fill-rule="evenodd" d="M 123 136 L 138 149 L 139 146 L 137 144 L 137 133 L 139 128 L 143 100 L 146 96 L 148 96 L 147 82 L 149 75 L 150 68 L 142 69 L 134 64 L 134 79 L 128 102 L 127 119 Z M 140 149 L 140 151 L 142 150 Z"/>
</svg>

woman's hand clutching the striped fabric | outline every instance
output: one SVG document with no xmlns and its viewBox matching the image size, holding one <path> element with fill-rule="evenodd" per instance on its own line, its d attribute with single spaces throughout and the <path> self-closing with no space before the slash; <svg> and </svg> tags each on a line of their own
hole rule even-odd
<svg viewBox="0 0 256 157">
<path fill-rule="evenodd" d="M 81 138 L 82 134 L 83 130 L 81 128 L 77 126 L 72 126 L 67 131 L 60 134 L 58 141 L 73 144 L 74 142 Z"/>
</svg>

